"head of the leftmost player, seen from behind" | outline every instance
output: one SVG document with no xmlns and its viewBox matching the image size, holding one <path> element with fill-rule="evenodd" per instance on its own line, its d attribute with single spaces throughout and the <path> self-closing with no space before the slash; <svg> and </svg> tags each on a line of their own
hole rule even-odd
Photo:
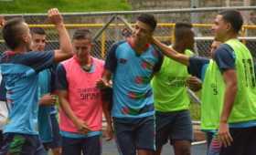
<svg viewBox="0 0 256 155">
<path fill-rule="evenodd" d="M 27 23 L 22 18 L 7 20 L 3 29 L 3 37 L 7 47 L 14 50 L 16 47 L 27 47 L 31 45 L 31 35 Z"/>
</svg>

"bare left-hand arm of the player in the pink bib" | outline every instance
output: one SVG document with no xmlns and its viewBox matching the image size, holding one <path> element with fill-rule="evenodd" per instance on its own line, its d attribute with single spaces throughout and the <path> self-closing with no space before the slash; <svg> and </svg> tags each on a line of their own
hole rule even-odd
<svg viewBox="0 0 256 155">
<path fill-rule="evenodd" d="M 61 109 L 66 113 L 68 118 L 71 119 L 78 131 L 83 134 L 86 134 L 88 131 L 90 131 L 86 123 L 83 120 L 77 118 L 73 110 L 70 108 L 69 101 L 67 100 L 68 92 L 66 90 L 59 90 L 58 95 Z"/>
</svg>

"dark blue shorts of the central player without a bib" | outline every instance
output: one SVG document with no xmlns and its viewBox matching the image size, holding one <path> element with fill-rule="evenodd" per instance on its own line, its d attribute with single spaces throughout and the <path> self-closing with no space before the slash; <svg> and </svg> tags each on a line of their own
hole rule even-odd
<svg viewBox="0 0 256 155">
<path fill-rule="evenodd" d="M 136 150 L 155 151 L 155 118 L 113 118 L 116 143 L 123 155 L 136 154 Z"/>
</svg>

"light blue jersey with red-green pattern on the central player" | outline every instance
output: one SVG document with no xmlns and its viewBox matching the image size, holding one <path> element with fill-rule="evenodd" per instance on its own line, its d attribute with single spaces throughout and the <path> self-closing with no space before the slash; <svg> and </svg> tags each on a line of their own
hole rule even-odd
<svg viewBox="0 0 256 155">
<path fill-rule="evenodd" d="M 143 118 L 155 113 L 150 80 L 161 66 L 162 55 L 147 46 L 137 55 L 127 41 L 112 46 L 105 68 L 112 72 L 112 117 Z"/>
</svg>

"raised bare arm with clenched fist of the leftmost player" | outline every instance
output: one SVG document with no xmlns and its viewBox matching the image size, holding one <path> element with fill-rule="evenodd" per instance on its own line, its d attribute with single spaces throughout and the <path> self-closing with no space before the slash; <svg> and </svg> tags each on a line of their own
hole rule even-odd
<svg viewBox="0 0 256 155">
<path fill-rule="evenodd" d="M 59 50 L 54 51 L 54 61 L 59 62 L 72 57 L 72 45 L 69 33 L 64 26 L 63 17 L 57 8 L 48 10 L 48 20 L 56 26 L 59 33 Z"/>
</svg>

